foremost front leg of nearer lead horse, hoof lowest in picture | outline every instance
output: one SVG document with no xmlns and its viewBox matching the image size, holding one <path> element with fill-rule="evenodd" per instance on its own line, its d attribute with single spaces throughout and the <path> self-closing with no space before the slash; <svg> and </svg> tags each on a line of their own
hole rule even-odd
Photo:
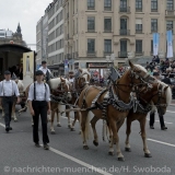
<svg viewBox="0 0 175 175">
<path fill-rule="evenodd" d="M 112 131 L 113 131 L 113 143 L 116 144 L 118 161 L 124 161 L 125 159 L 119 147 L 119 137 L 117 132 L 117 126 L 114 119 L 109 120 L 109 127 L 112 128 Z"/>
</svg>

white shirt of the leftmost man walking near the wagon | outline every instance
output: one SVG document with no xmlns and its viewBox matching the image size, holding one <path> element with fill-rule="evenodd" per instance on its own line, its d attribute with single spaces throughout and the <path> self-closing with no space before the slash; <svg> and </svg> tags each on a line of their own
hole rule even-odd
<svg viewBox="0 0 175 175">
<path fill-rule="evenodd" d="M 19 89 L 12 80 L 3 80 L 0 82 L 0 96 L 20 96 Z"/>
</svg>

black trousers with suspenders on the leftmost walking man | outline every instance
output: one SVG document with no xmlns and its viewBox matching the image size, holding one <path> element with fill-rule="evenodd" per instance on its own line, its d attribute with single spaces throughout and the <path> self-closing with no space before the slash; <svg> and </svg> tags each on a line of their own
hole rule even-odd
<svg viewBox="0 0 175 175">
<path fill-rule="evenodd" d="M 4 110 L 4 124 L 5 127 L 10 127 L 10 121 L 11 121 L 11 115 L 12 115 L 12 106 L 13 106 L 13 101 L 14 101 L 14 94 L 13 94 L 13 82 L 12 82 L 12 95 L 11 96 L 5 96 L 4 94 L 4 88 L 3 88 L 3 81 L 2 81 L 2 107 Z"/>
</svg>

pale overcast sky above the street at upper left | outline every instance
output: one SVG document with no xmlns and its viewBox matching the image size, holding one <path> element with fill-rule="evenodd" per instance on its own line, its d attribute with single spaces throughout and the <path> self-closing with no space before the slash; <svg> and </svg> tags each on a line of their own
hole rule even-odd
<svg viewBox="0 0 175 175">
<path fill-rule="evenodd" d="M 36 24 L 50 2 L 52 0 L 0 0 L 0 30 L 15 33 L 20 22 L 23 39 L 26 44 L 36 44 Z"/>
</svg>

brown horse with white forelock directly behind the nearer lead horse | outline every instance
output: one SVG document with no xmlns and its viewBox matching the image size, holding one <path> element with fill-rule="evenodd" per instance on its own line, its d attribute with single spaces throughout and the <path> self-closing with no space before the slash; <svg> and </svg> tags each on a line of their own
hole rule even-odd
<svg viewBox="0 0 175 175">
<path fill-rule="evenodd" d="M 90 69 L 79 68 L 79 71 L 74 75 L 74 80 L 71 88 L 72 100 L 70 103 L 73 108 L 78 107 L 79 95 L 83 91 L 83 89 L 85 89 L 90 84 L 90 80 L 91 80 Z M 71 106 L 67 106 L 66 108 L 68 110 L 66 114 L 67 114 L 67 117 L 69 118 L 70 117 L 69 110 L 71 110 Z M 74 131 L 74 125 L 77 120 L 80 120 L 80 114 L 79 112 L 74 110 L 74 119 L 72 124 L 68 126 L 71 131 Z"/>
</svg>

